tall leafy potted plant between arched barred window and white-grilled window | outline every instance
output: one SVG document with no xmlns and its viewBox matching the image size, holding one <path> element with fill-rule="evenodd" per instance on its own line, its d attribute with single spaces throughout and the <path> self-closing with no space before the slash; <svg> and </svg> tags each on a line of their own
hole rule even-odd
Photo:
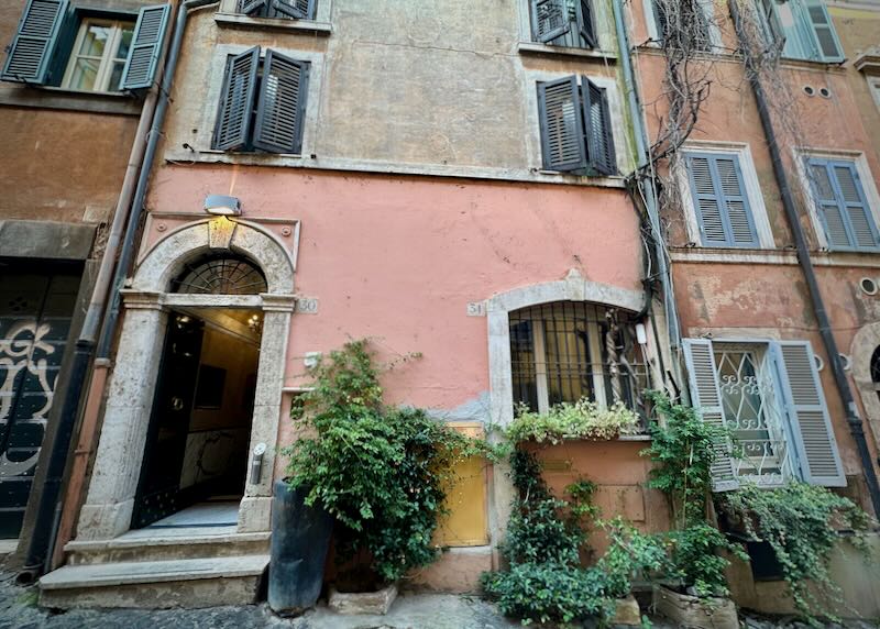
<svg viewBox="0 0 880 629">
<path fill-rule="evenodd" d="M 672 531 L 667 533 L 668 581 L 654 586 L 658 611 L 688 627 L 736 629 L 736 606 L 729 599 L 725 570 L 726 551 L 745 556 L 741 548 L 706 518 L 712 501 L 714 443 L 724 438 L 694 409 L 673 404 L 666 395 L 649 391 L 661 426 L 652 421 L 651 445 L 642 454 L 654 463 L 650 487 L 663 492 L 672 507 Z"/>
</svg>

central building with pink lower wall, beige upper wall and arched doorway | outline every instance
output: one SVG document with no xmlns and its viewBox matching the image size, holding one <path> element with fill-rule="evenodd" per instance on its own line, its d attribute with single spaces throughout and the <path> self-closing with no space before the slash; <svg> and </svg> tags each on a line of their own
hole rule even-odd
<svg viewBox="0 0 880 629">
<path fill-rule="evenodd" d="M 476 21 L 452 1 L 202 4 L 178 14 L 97 454 L 47 605 L 252 600 L 290 399 L 348 339 L 421 354 L 385 375 L 389 401 L 474 432 L 518 401 L 638 410 L 661 386 L 612 2 Z M 638 445 L 600 481 L 648 527 Z M 568 468 L 595 470 L 573 448 Z M 503 470 L 472 468 L 415 578 L 475 589 L 510 498 Z M 133 559 L 122 584 L 81 576 Z"/>
</svg>

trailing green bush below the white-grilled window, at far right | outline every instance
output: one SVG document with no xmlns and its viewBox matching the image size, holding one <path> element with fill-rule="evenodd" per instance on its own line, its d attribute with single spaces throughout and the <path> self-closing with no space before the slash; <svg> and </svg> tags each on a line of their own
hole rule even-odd
<svg viewBox="0 0 880 629">
<path fill-rule="evenodd" d="M 843 602 L 840 589 L 828 574 L 832 551 L 840 541 L 839 529 L 860 534 L 870 518 L 851 500 L 825 487 L 790 483 L 768 489 L 745 486 L 721 500 L 728 517 L 756 541 L 766 541 L 782 566 L 792 599 L 806 619 L 836 620 L 833 607 Z"/>
</svg>

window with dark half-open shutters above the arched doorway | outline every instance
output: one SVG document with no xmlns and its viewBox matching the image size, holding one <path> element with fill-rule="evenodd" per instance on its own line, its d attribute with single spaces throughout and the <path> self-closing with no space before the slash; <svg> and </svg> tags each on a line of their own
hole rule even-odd
<svg viewBox="0 0 880 629">
<path fill-rule="evenodd" d="M 299 153 L 309 63 L 260 46 L 227 62 L 212 148 Z"/>
</svg>

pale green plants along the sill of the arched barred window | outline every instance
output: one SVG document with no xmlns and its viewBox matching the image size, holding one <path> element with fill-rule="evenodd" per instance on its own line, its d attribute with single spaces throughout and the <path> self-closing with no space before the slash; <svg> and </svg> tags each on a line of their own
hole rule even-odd
<svg viewBox="0 0 880 629">
<path fill-rule="evenodd" d="M 574 404 L 561 402 L 549 412 L 535 412 L 524 404 L 516 408 L 516 418 L 507 428 L 507 438 L 514 443 L 536 441 L 561 443 L 565 439 L 615 439 L 620 434 L 639 431 L 639 416 L 617 402 L 610 408 L 600 408 L 587 398 Z"/>
</svg>

